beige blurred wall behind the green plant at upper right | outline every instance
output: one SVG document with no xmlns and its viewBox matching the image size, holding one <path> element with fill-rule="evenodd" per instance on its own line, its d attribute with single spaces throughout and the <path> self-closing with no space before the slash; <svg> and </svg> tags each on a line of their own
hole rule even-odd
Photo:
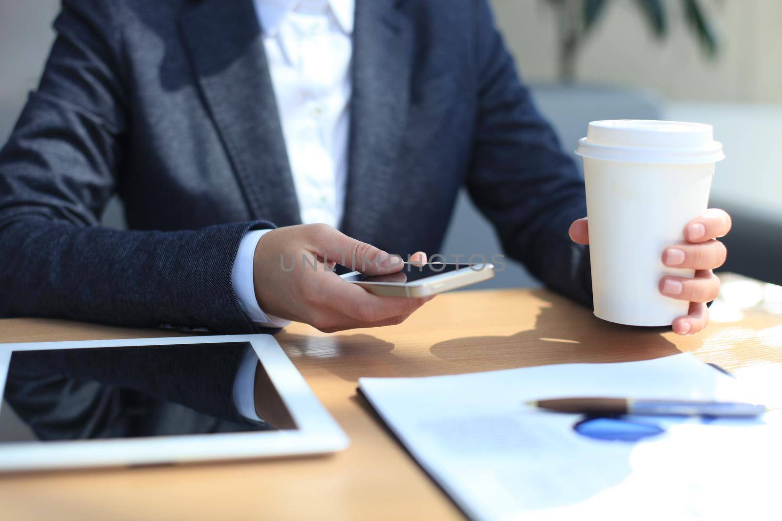
<svg viewBox="0 0 782 521">
<path fill-rule="evenodd" d="M 548 0 L 492 0 L 497 25 L 528 81 L 556 79 L 556 16 Z M 637 0 L 609 0 L 583 45 L 576 78 L 644 87 L 669 100 L 782 103 L 782 2 L 702 0 L 719 38 L 704 59 L 684 2 L 664 0 L 667 35 L 655 37 Z"/>
</svg>

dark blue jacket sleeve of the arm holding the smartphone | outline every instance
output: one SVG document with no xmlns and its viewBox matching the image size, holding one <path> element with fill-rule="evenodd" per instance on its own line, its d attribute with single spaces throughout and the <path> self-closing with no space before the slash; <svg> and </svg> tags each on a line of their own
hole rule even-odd
<svg viewBox="0 0 782 521">
<path fill-rule="evenodd" d="M 41 84 L 0 152 L 0 316 L 251 333 L 231 266 L 246 231 L 271 223 L 98 226 L 129 152 L 132 102 L 114 16 L 106 0 L 63 2 Z"/>
</svg>

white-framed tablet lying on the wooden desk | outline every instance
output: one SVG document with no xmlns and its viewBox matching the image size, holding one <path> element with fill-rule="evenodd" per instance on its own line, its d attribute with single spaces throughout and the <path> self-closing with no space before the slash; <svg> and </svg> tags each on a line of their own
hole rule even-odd
<svg viewBox="0 0 782 521">
<path fill-rule="evenodd" d="M 259 381 L 271 388 L 262 399 L 282 411 L 278 426 L 233 406 L 231 370 L 253 352 L 260 365 L 241 392 Z M 0 471 L 314 455 L 348 444 L 265 334 L 0 344 L 0 389 Z"/>
</svg>

